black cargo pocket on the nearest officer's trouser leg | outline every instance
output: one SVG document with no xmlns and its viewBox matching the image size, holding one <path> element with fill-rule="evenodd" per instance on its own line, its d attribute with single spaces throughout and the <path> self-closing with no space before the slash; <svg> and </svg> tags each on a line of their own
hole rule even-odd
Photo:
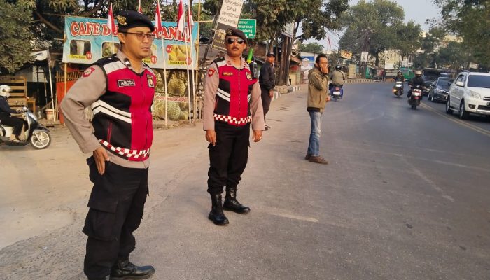
<svg viewBox="0 0 490 280">
<path fill-rule="evenodd" d="M 90 207 L 83 232 L 95 239 L 111 241 L 118 237 L 116 209 L 118 200 L 112 197 L 89 200 Z"/>
</svg>

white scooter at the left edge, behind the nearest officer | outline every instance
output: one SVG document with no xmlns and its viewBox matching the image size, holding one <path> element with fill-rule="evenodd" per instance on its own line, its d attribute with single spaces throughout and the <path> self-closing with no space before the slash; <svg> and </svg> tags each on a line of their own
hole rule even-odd
<svg viewBox="0 0 490 280">
<path fill-rule="evenodd" d="M 48 148 L 51 144 L 49 130 L 39 125 L 36 115 L 29 111 L 27 107 L 22 108 L 22 118 L 24 119 L 25 131 L 21 138 L 24 140 L 20 142 L 10 141 L 13 127 L 0 123 L 0 143 L 3 142 L 7 146 L 26 146 L 30 143 L 36 149 Z"/>
</svg>

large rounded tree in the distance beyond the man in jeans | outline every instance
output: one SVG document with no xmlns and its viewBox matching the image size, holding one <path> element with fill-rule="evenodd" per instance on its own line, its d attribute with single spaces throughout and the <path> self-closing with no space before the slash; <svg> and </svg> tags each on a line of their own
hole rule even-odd
<svg viewBox="0 0 490 280">
<path fill-rule="evenodd" d="M 404 18 L 403 8 L 394 1 L 360 1 L 342 16 L 342 25 L 348 37 L 341 38 L 340 47 L 360 47 L 360 50 L 354 51 L 370 52 L 376 57 L 376 66 L 379 66 L 379 54 L 395 46 L 396 26 Z"/>
</svg>

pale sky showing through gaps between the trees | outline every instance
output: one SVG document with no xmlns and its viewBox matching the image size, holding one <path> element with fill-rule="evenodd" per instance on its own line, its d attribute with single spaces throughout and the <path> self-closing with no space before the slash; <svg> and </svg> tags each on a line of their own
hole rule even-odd
<svg viewBox="0 0 490 280">
<path fill-rule="evenodd" d="M 358 0 L 349 0 L 349 6 L 355 6 Z M 395 1 L 399 6 L 402 6 L 405 11 L 405 22 L 409 20 L 414 20 L 414 22 L 419 23 L 423 31 L 428 31 L 429 26 L 426 25 L 426 20 L 430 18 L 437 18 L 440 16 L 439 10 L 434 6 L 431 0 L 398 0 Z M 342 36 L 342 33 L 338 31 L 328 31 L 330 36 L 330 43 L 332 44 L 332 49 L 337 50 L 339 47 L 338 41 Z M 318 42 L 316 40 L 308 40 L 305 43 Z M 330 46 L 327 43 L 327 39 L 320 41 L 325 48 L 329 49 Z"/>
</svg>

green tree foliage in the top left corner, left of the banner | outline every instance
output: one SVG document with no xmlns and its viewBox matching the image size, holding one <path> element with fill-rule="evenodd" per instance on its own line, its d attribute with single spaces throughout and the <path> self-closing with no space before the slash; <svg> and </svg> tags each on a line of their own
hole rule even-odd
<svg viewBox="0 0 490 280">
<path fill-rule="evenodd" d="M 31 13 L 0 0 L 0 74 L 11 73 L 31 59 Z"/>
</svg>

